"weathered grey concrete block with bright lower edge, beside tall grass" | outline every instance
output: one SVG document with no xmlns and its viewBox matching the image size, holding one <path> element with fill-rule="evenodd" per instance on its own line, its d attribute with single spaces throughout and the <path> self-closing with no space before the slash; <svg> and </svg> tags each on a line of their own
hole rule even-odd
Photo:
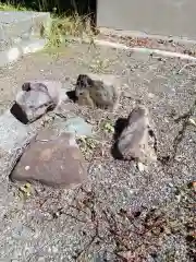
<svg viewBox="0 0 196 262">
<path fill-rule="evenodd" d="M 49 27 L 49 13 L 0 11 L 0 67 L 42 49 Z"/>
</svg>

